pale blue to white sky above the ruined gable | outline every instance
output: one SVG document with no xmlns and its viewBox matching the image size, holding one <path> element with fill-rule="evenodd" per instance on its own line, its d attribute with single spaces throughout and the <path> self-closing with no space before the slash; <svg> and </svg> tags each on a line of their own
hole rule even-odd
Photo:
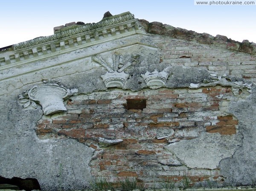
<svg viewBox="0 0 256 191">
<path fill-rule="evenodd" d="M 2 0 L 0 47 L 52 35 L 55 26 L 66 23 L 97 23 L 107 11 L 130 11 L 149 22 L 256 43 L 253 1 L 254 6 L 196 6 L 194 0 Z"/>
</svg>

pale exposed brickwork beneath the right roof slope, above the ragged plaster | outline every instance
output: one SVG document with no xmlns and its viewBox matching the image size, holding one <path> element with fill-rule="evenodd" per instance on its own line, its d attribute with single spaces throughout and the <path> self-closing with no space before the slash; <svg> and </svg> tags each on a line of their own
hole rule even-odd
<svg viewBox="0 0 256 191">
<path fill-rule="evenodd" d="M 163 63 L 206 69 L 218 75 L 229 75 L 256 82 L 255 55 L 169 37 L 155 36 L 153 39 L 160 49 Z"/>
</svg>

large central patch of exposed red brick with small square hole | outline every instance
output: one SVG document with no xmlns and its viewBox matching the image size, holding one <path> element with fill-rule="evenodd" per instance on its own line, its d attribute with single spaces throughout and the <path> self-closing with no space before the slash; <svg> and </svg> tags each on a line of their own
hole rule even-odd
<svg viewBox="0 0 256 191">
<path fill-rule="evenodd" d="M 221 95 L 221 96 L 220 96 Z M 202 132 L 222 136 L 236 134 L 238 120 L 226 114 L 230 87 L 199 89 L 144 89 L 137 92 L 111 89 L 73 96 L 67 113 L 43 116 L 36 133 L 41 139 L 73 138 L 95 149 L 90 161 L 94 176 L 136 177 L 146 185 L 168 179 L 181 180 L 184 173 L 196 182 L 211 174 L 222 181 L 219 169 L 189 169 L 164 147 L 194 139 Z M 127 100 L 146 100 L 143 109 L 127 109 Z M 99 146 L 99 137 L 122 139 L 109 147 Z"/>
</svg>

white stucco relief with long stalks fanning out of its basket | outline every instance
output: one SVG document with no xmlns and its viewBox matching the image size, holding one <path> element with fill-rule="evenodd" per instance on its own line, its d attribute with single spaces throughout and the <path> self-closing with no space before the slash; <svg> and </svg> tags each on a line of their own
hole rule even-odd
<svg viewBox="0 0 256 191">
<path fill-rule="evenodd" d="M 106 74 L 101 76 L 107 88 L 110 88 L 110 87 L 122 88 L 129 77 L 129 74 L 125 74 L 124 70 L 129 66 L 131 66 L 132 63 L 128 61 L 125 63 L 122 63 L 121 57 L 122 57 L 121 55 L 113 54 L 112 55 L 113 62 L 108 63 L 99 54 L 92 56 L 92 60 L 94 62 L 99 63 L 100 65 L 102 65 L 108 70 Z"/>
</svg>

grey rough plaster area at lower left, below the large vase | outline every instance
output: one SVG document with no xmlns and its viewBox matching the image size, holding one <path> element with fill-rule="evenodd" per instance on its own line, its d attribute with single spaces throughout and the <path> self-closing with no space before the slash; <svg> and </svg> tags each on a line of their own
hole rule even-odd
<svg viewBox="0 0 256 191">
<path fill-rule="evenodd" d="M 0 99 L 0 175 L 36 178 L 42 190 L 88 185 L 93 149 L 76 140 L 39 140 L 35 123 L 42 110 L 23 109 L 17 95 Z"/>
</svg>

